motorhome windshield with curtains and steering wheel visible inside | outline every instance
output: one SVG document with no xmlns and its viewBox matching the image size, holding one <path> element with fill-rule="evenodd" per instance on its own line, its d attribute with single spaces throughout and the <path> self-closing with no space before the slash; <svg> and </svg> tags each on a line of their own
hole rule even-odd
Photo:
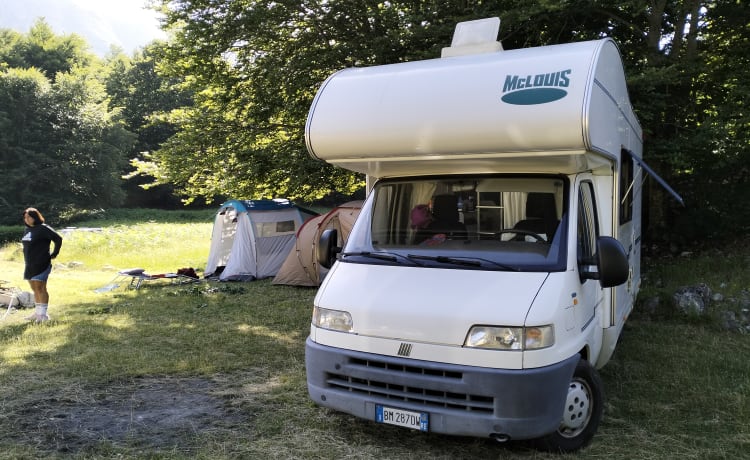
<svg viewBox="0 0 750 460">
<path fill-rule="evenodd" d="M 378 182 L 341 260 L 480 270 L 565 269 L 563 176 Z"/>
</svg>

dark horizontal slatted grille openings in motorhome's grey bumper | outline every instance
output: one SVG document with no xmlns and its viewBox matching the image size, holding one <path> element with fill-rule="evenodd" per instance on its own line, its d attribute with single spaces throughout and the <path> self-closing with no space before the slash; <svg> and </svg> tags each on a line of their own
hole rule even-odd
<svg viewBox="0 0 750 460">
<path fill-rule="evenodd" d="M 446 386 L 445 383 L 454 388 L 461 388 L 461 372 L 356 358 L 350 359 L 347 368 L 352 374 L 360 377 L 329 373 L 326 383 L 332 388 L 393 401 L 464 411 L 493 412 L 494 398 L 491 396 L 437 389 Z M 388 380 L 400 383 L 387 383 L 382 378 L 384 373 L 387 373 Z"/>
</svg>

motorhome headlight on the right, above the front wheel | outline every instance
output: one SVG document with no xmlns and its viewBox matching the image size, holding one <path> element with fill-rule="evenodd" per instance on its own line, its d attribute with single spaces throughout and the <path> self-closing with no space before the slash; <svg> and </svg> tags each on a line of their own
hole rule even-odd
<svg viewBox="0 0 750 460">
<path fill-rule="evenodd" d="M 537 350 L 555 343 L 552 326 L 505 327 L 474 326 L 464 341 L 465 347 L 494 350 Z"/>
</svg>

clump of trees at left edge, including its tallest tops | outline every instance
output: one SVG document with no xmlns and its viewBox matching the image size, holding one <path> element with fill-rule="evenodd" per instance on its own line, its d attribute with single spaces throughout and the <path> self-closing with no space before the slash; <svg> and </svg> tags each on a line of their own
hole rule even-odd
<svg viewBox="0 0 750 460">
<path fill-rule="evenodd" d="M 36 206 L 49 217 L 118 205 L 133 138 L 109 111 L 98 68 L 76 36 L 38 22 L 0 45 L 0 222 Z"/>
</svg>

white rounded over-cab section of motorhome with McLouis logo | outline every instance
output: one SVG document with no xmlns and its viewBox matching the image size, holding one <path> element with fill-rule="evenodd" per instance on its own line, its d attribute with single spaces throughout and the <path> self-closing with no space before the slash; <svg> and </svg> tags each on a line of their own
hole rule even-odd
<svg viewBox="0 0 750 460">
<path fill-rule="evenodd" d="M 641 156 L 611 39 L 345 69 L 318 91 L 305 137 L 313 157 L 376 178 L 611 174 L 623 148 Z"/>
</svg>

